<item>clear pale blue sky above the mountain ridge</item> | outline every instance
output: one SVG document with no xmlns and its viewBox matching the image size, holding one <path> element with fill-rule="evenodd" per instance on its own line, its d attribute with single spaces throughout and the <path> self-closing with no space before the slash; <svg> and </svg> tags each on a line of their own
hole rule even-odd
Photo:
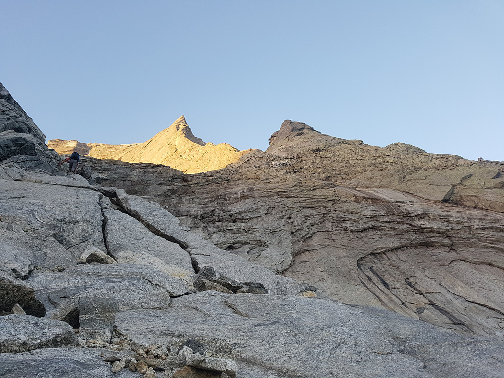
<svg viewBox="0 0 504 378">
<path fill-rule="evenodd" d="M 504 160 L 504 2 L 0 0 L 0 82 L 48 139 L 143 142 L 184 114 L 268 147 L 284 119 Z"/>
</svg>

